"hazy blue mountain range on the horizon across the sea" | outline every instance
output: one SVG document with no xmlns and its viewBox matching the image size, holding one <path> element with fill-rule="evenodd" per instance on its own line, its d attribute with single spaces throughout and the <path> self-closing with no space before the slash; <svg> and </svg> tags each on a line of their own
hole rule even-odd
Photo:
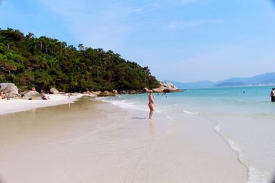
<svg viewBox="0 0 275 183">
<path fill-rule="evenodd" d="M 219 82 L 199 81 L 199 82 L 171 82 L 177 86 L 177 88 L 209 88 L 209 87 L 229 87 L 229 86 L 247 86 L 247 85 L 275 85 L 275 73 L 264 73 L 261 75 L 255 75 L 253 77 L 232 77 L 227 80 L 221 80 Z"/>
</svg>

